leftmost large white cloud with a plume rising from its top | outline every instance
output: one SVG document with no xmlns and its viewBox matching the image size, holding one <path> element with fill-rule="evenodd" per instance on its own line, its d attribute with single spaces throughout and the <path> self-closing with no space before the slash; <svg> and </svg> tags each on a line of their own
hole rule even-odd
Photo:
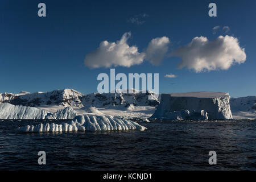
<svg viewBox="0 0 256 182">
<path fill-rule="evenodd" d="M 131 67 L 135 64 L 141 64 L 145 54 L 139 53 L 138 47 L 130 47 L 127 44 L 127 39 L 130 38 L 130 35 L 130 32 L 126 32 L 121 40 L 116 43 L 106 40 L 101 42 L 100 47 L 85 56 L 85 65 L 90 68 L 109 68 L 112 66 Z"/>
</svg>

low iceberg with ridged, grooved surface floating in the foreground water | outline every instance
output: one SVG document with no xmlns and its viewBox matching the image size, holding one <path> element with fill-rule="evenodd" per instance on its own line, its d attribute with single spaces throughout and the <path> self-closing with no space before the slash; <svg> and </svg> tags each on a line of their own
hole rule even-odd
<svg viewBox="0 0 256 182">
<path fill-rule="evenodd" d="M 49 133 L 72 131 L 144 131 L 146 127 L 126 119 L 117 119 L 110 116 L 78 115 L 73 121 L 67 123 L 40 123 L 39 125 L 27 125 L 19 127 L 16 131 L 21 133 Z"/>
</svg>

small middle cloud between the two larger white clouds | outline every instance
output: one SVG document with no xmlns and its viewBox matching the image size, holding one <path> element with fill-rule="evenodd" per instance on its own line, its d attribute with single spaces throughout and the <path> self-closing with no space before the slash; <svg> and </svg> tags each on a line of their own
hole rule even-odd
<svg viewBox="0 0 256 182">
<path fill-rule="evenodd" d="M 159 65 L 168 51 L 169 38 L 155 38 L 150 41 L 146 49 L 146 59 L 154 65 Z"/>
</svg>

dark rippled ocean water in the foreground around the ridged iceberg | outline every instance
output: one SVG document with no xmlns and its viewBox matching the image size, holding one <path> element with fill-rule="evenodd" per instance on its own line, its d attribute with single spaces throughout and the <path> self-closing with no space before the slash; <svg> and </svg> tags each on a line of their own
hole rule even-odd
<svg viewBox="0 0 256 182">
<path fill-rule="evenodd" d="M 256 170 L 256 121 L 140 124 L 148 129 L 22 134 L 15 129 L 31 121 L 2 121 L 0 170 Z"/>
</svg>

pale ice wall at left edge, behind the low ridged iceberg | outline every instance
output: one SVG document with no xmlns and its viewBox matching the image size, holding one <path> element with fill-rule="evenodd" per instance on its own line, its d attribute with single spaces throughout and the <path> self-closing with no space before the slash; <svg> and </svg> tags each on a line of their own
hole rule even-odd
<svg viewBox="0 0 256 182">
<path fill-rule="evenodd" d="M 36 107 L 0 104 L 0 119 L 73 119 L 76 115 L 76 111 L 72 107 L 60 109 L 51 114 Z"/>
</svg>

